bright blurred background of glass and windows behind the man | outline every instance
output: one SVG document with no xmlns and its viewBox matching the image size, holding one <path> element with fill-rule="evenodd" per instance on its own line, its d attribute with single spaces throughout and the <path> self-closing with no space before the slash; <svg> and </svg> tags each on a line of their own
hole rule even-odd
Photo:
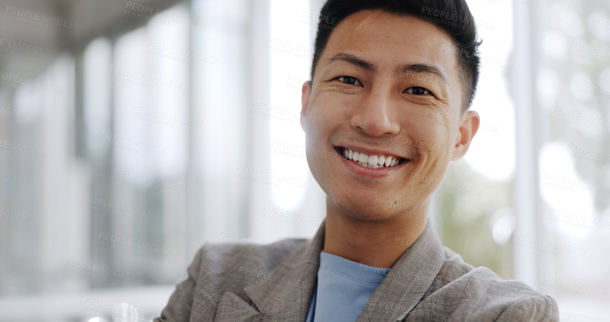
<svg viewBox="0 0 610 322">
<path fill-rule="evenodd" d="M 0 320 L 149 321 L 201 244 L 310 238 L 322 3 L 1 0 Z M 610 321 L 610 4 L 468 4 L 482 123 L 432 222 L 561 320 Z"/>
</svg>

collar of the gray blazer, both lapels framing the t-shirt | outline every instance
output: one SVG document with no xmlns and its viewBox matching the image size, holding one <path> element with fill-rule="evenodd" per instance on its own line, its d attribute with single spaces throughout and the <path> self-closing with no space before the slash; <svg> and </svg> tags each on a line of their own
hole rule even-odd
<svg viewBox="0 0 610 322">
<path fill-rule="evenodd" d="M 305 320 L 317 282 L 325 227 L 326 219 L 314 238 L 297 247 L 271 272 L 279 282 L 253 283 L 243 288 L 261 313 L 273 317 L 275 321 L 293 321 L 295 315 Z M 397 321 L 404 318 L 422 299 L 444 260 L 445 248 L 428 222 L 422 235 L 392 266 L 356 322 Z"/>
</svg>

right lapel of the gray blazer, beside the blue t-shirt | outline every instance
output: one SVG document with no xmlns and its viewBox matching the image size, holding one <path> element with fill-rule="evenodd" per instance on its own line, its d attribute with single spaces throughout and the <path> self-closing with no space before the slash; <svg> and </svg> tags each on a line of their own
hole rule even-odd
<svg viewBox="0 0 610 322">
<path fill-rule="evenodd" d="M 368 300 L 356 322 L 398 321 L 406 317 L 432 284 L 445 249 L 432 225 L 409 246 Z"/>
</svg>

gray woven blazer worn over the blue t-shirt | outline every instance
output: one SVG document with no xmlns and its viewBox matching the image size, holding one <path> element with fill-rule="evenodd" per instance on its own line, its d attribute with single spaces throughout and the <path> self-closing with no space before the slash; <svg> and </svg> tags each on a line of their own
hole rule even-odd
<svg viewBox="0 0 610 322">
<path fill-rule="evenodd" d="M 325 224 L 312 240 L 204 245 L 188 266 L 188 278 L 178 284 L 154 321 L 305 321 Z M 397 241 L 395 247 L 404 247 L 401 244 L 405 243 Z M 550 296 L 464 263 L 442 246 L 428 224 L 356 322 L 558 321 L 558 313 Z"/>
</svg>

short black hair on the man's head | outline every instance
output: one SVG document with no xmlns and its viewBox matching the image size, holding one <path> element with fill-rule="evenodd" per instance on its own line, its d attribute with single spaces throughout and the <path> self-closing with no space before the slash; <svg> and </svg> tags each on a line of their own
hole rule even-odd
<svg viewBox="0 0 610 322">
<path fill-rule="evenodd" d="M 323 55 L 331 32 L 342 25 L 342 20 L 353 13 L 363 10 L 382 10 L 398 16 L 413 16 L 434 24 L 454 40 L 457 50 L 452 51 L 458 59 L 459 84 L 464 92 L 462 112 L 467 111 L 475 96 L 479 79 L 480 57 L 478 47 L 481 41 L 476 33 L 475 18 L 470 13 L 465 0 L 328 0 L 320 10 L 318 32 L 315 37 L 314 61 L 311 67 L 311 79 L 314 79 L 315 67 Z M 356 26 L 354 26 L 356 27 Z M 360 30 L 363 30 L 360 27 Z M 364 29 L 368 31 L 368 27 Z M 445 48 L 448 49 L 448 48 Z"/>
</svg>

